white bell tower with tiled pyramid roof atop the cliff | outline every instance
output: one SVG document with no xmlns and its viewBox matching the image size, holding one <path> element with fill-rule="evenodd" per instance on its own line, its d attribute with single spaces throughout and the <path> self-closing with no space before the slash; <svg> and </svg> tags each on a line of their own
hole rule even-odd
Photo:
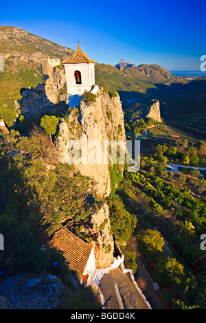
<svg viewBox="0 0 206 323">
<path fill-rule="evenodd" d="M 69 107 L 78 106 L 84 91 L 90 91 L 91 86 L 95 85 L 95 63 L 82 52 L 80 44 L 77 51 L 62 62 L 65 66 Z"/>
</svg>

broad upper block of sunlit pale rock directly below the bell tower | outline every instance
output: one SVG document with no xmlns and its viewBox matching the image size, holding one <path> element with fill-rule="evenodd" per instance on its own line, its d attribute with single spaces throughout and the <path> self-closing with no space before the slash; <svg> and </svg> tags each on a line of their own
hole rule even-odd
<svg viewBox="0 0 206 323">
<path fill-rule="evenodd" d="M 103 198 L 108 197 L 111 193 L 111 183 L 108 164 L 104 161 L 104 147 L 107 141 L 113 140 L 119 141 L 122 150 L 126 148 L 124 115 L 118 95 L 111 98 L 107 91 L 100 88 L 95 102 L 81 102 L 78 109 L 73 109 L 69 116 L 60 122 L 56 145 L 63 163 L 71 162 L 70 156 L 75 144 L 71 140 L 77 139 L 79 146 L 74 147 L 76 150 L 81 150 L 85 156 L 82 145 L 84 139 L 88 149 L 87 161 L 84 161 L 82 156 L 82 164 L 76 164 L 76 168 L 82 175 L 95 181 L 96 194 Z"/>
</svg>

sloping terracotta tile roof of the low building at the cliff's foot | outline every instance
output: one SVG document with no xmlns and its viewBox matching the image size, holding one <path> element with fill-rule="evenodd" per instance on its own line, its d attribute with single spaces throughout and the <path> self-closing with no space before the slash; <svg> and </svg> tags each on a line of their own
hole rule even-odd
<svg viewBox="0 0 206 323">
<path fill-rule="evenodd" d="M 87 261 L 91 254 L 92 245 L 84 242 L 81 238 L 65 229 L 64 227 L 46 241 L 45 247 L 55 248 L 62 252 L 69 263 L 69 269 L 76 271 L 82 278 Z"/>
</svg>

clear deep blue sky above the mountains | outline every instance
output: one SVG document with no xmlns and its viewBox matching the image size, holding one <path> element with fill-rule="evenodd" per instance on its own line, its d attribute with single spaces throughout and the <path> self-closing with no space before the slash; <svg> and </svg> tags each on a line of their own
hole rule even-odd
<svg viewBox="0 0 206 323">
<path fill-rule="evenodd" d="M 170 71 L 199 70 L 206 54 L 206 1 L 3 1 L 0 25 L 76 49 L 98 63 L 124 58 Z"/>
</svg>

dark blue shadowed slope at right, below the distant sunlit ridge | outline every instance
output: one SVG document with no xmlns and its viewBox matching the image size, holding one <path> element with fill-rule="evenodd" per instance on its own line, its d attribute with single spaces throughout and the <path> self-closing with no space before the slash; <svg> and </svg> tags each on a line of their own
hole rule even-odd
<svg viewBox="0 0 206 323">
<path fill-rule="evenodd" d="M 170 85 L 155 83 L 146 93 L 119 91 L 122 107 L 132 114 L 146 107 L 151 100 L 159 100 L 161 117 L 197 137 L 206 137 L 206 79 L 191 82 L 173 82 Z"/>
</svg>

